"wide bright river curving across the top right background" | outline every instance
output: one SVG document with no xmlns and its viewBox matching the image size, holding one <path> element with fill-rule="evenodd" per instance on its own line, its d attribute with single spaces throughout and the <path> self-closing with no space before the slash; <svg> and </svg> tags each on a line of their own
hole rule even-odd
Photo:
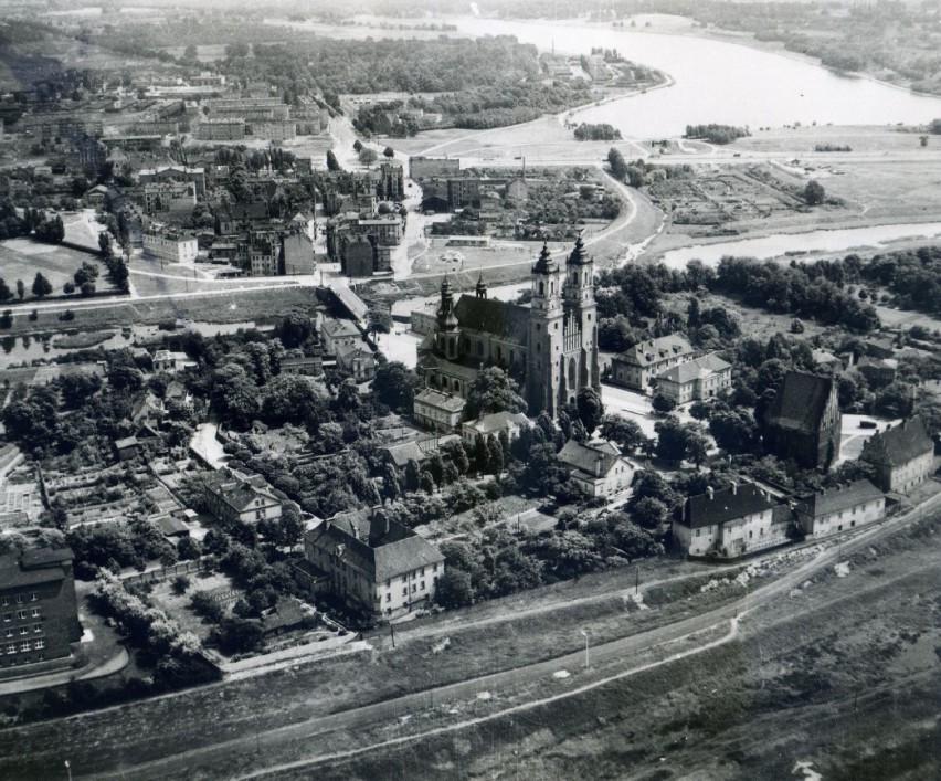
<svg viewBox="0 0 941 781">
<path fill-rule="evenodd" d="M 579 113 L 627 137 L 677 136 L 687 124 L 781 127 L 924 124 L 941 117 L 941 98 L 869 78 L 842 76 L 803 60 L 691 35 L 643 33 L 575 23 L 448 19 L 473 35 L 515 35 L 543 51 L 589 54 L 592 46 L 668 73 L 675 84 Z"/>
</svg>

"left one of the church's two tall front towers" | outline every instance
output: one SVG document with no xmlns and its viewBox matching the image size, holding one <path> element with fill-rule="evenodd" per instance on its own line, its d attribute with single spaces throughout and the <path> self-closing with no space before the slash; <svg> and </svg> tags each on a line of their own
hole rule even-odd
<svg viewBox="0 0 941 781">
<path fill-rule="evenodd" d="M 559 412 L 561 386 L 562 323 L 564 307 L 562 288 L 564 272 L 542 245 L 539 260 L 532 266 L 532 306 L 529 314 L 529 345 L 526 366 L 526 400 L 530 414 L 541 410 L 552 418 Z"/>
</svg>

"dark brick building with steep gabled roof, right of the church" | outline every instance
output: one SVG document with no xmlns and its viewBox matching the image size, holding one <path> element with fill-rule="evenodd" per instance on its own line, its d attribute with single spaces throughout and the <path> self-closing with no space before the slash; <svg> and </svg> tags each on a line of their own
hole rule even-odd
<svg viewBox="0 0 941 781">
<path fill-rule="evenodd" d="M 764 450 L 813 469 L 839 455 L 842 416 L 836 381 L 789 371 L 764 415 Z"/>
</svg>

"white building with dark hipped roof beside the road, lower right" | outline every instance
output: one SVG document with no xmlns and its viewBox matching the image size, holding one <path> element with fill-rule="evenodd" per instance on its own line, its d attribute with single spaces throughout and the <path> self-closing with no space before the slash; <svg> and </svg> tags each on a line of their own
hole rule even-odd
<svg viewBox="0 0 941 781">
<path fill-rule="evenodd" d="M 751 484 L 690 496 L 673 524 L 673 538 L 690 557 L 736 559 L 789 541 L 793 527 L 787 505 L 778 505 Z"/>
</svg>

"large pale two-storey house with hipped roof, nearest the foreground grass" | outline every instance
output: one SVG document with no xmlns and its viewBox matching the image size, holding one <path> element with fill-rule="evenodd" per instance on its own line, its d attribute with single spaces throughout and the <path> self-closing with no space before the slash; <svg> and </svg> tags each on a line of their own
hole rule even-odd
<svg viewBox="0 0 941 781">
<path fill-rule="evenodd" d="M 381 509 L 326 520 L 304 537 L 321 588 L 376 616 L 397 618 L 434 601 L 444 556 Z"/>
</svg>

